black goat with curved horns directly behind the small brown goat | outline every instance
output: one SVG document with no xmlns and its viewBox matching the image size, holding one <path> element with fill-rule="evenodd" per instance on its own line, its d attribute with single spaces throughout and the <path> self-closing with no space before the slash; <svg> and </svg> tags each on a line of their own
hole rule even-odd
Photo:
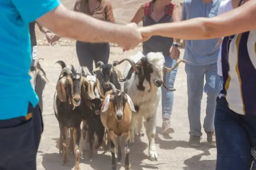
<svg viewBox="0 0 256 170">
<path fill-rule="evenodd" d="M 115 85 L 118 90 L 121 90 L 121 85 L 118 82 L 118 79 L 123 79 L 122 73 L 116 68 L 117 63 L 113 62 L 112 64 L 104 64 L 102 61 L 97 62 L 99 65 L 98 68 L 93 70 L 96 74 L 96 77 L 99 79 L 100 84 L 103 88 L 104 94 L 111 90 L 108 82 L 111 82 Z"/>
</svg>

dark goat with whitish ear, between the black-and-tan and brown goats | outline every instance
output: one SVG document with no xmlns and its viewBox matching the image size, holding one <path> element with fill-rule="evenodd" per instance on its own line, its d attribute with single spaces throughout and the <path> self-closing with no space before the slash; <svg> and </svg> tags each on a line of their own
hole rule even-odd
<svg viewBox="0 0 256 170">
<path fill-rule="evenodd" d="M 99 80 L 95 75 L 91 75 L 87 67 L 83 67 L 83 77 L 85 77 L 93 86 L 94 95 L 96 98 L 93 100 L 86 100 L 83 109 L 83 114 L 86 115 L 86 120 L 83 120 L 82 138 L 81 138 L 81 150 L 85 150 L 86 142 L 89 141 L 90 151 L 89 157 L 93 156 L 93 145 L 95 149 L 99 149 L 99 146 L 103 142 L 105 128 L 100 120 L 100 109 L 104 96 L 102 95 L 102 88 Z M 94 137 L 95 134 L 95 137 Z M 96 139 L 95 139 L 96 138 Z M 96 143 L 94 143 L 94 141 Z"/>
</svg>

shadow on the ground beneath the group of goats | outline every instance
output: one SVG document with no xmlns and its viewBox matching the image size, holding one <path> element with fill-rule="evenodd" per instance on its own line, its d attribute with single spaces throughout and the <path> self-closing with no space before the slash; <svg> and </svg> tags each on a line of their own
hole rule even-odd
<svg viewBox="0 0 256 170">
<path fill-rule="evenodd" d="M 57 141 L 58 138 L 53 138 L 56 141 L 56 148 L 57 148 Z M 144 154 L 144 150 L 147 149 L 147 143 L 141 141 L 141 139 L 136 136 L 135 144 L 131 146 L 130 152 L 130 162 L 131 162 L 131 170 L 143 170 L 146 169 L 158 169 L 157 165 L 159 164 L 144 164 L 142 161 L 144 159 L 149 159 L 147 154 Z M 110 152 L 110 151 L 108 151 Z M 90 165 L 94 170 L 111 170 L 111 156 L 108 154 L 99 153 L 94 154 L 93 159 L 87 158 L 88 152 L 83 152 L 84 159 L 80 159 L 80 167 L 82 164 Z M 124 154 L 124 147 L 122 147 L 122 160 L 121 163 L 117 163 L 117 169 L 124 167 L 125 162 L 125 154 Z M 75 156 L 74 154 L 69 154 L 69 162 L 67 165 L 63 165 L 62 163 L 62 153 L 51 153 L 51 154 L 43 154 L 43 167 L 45 170 L 73 170 L 75 166 Z M 82 169 L 82 168 L 81 168 Z"/>
</svg>

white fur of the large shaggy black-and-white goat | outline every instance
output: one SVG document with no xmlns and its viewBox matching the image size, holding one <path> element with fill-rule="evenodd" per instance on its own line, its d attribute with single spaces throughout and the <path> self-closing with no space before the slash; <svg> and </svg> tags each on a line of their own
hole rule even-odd
<svg viewBox="0 0 256 170">
<path fill-rule="evenodd" d="M 141 52 L 138 52 L 136 55 L 131 56 L 130 58 L 136 63 L 144 55 Z M 150 77 L 150 84 L 147 80 L 144 80 L 143 86 L 144 91 L 138 90 L 137 85 L 139 85 L 139 79 L 134 77 L 134 73 L 131 75 L 129 80 L 125 82 L 125 93 L 127 93 L 131 100 L 133 101 L 134 106 L 139 106 L 139 112 L 133 112 L 133 117 L 131 120 L 131 143 L 134 142 L 134 130 L 138 126 L 139 133 L 143 125 L 143 117 L 146 120 L 145 129 L 147 137 L 149 140 L 149 157 L 150 159 L 157 160 L 157 152 L 155 151 L 155 133 L 156 133 L 156 115 L 157 115 L 157 106 L 160 101 L 161 88 L 157 88 L 154 84 L 154 81 L 158 78 L 163 79 L 163 66 L 165 63 L 165 58 L 162 53 L 148 53 L 147 61 L 152 64 L 153 73 Z M 124 77 L 127 76 L 131 64 L 127 62 L 127 66 L 124 70 Z"/>
</svg>

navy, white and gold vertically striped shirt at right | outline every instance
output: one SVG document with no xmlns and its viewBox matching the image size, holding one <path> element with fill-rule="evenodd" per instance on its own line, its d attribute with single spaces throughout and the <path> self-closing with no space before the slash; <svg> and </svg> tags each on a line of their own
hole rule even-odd
<svg viewBox="0 0 256 170">
<path fill-rule="evenodd" d="M 221 48 L 224 85 L 219 97 L 237 114 L 256 115 L 256 29 L 224 37 Z"/>
</svg>

